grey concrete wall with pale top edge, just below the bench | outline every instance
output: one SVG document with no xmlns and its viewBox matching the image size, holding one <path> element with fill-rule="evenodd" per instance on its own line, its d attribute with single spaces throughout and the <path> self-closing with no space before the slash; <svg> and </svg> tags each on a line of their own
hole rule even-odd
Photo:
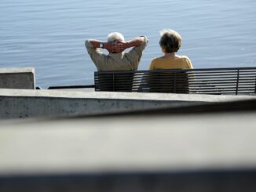
<svg viewBox="0 0 256 192">
<path fill-rule="evenodd" d="M 0 89 L 0 118 L 102 114 L 254 98 L 255 96 Z"/>
</svg>

